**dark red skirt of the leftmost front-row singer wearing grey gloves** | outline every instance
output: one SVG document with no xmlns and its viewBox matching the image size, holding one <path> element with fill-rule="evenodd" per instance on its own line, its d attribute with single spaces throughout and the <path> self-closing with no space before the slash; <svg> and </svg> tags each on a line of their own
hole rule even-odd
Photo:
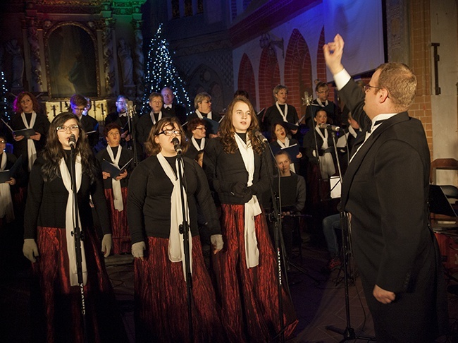
<svg viewBox="0 0 458 343">
<path fill-rule="evenodd" d="M 70 286 L 66 230 L 38 227 L 39 257 L 32 264 L 32 329 L 36 342 L 85 342 L 81 291 Z M 85 230 L 87 342 L 128 342 L 120 312 L 93 233 Z"/>
</svg>

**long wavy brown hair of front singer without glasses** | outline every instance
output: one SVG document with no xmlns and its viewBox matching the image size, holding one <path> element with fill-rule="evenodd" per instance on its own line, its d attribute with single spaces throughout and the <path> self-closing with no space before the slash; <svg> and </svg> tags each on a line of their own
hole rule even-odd
<svg viewBox="0 0 458 343">
<path fill-rule="evenodd" d="M 256 117 L 256 112 L 254 112 L 254 108 L 251 102 L 246 97 L 235 97 L 232 102 L 230 102 L 228 106 L 228 111 L 226 112 L 223 120 L 221 121 L 221 125 L 219 126 L 219 136 L 221 137 L 221 143 L 223 144 L 224 152 L 227 154 L 234 154 L 237 151 L 238 146 L 235 142 L 235 128 L 233 125 L 233 110 L 234 106 L 237 102 L 245 102 L 248 105 L 249 112 L 252 116 L 252 122 L 249 124 L 247 129 L 247 135 L 249 139 L 252 141 L 252 146 L 254 152 L 258 155 L 262 155 L 262 143 L 261 141 L 254 136 L 256 130 L 259 130 L 258 119 Z"/>
</svg>

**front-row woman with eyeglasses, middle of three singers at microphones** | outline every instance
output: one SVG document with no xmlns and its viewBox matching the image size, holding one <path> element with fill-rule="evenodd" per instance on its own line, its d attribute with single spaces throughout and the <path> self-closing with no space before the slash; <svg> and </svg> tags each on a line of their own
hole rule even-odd
<svg viewBox="0 0 458 343">
<path fill-rule="evenodd" d="M 132 239 L 137 342 L 189 342 L 187 288 L 182 234 L 180 170 L 174 139 L 187 149 L 178 118 L 158 121 L 145 143 L 149 157 L 132 172 L 128 224 Z M 211 280 L 204 264 L 197 226 L 197 205 L 207 219 L 213 253 L 223 239 L 209 185 L 199 164 L 182 157 L 185 207 L 189 214 L 194 342 L 224 340 Z M 181 168 L 183 170 L 183 168 Z"/>
</svg>

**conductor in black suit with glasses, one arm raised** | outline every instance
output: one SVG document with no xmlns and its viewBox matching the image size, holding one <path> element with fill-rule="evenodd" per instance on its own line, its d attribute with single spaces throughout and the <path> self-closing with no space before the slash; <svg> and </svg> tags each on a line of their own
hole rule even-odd
<svg viewBox="0 0 458 343">
<path fill-rule="evenodd" d="M 448 325 L 440 253 L 428 225 L 430 154 L 421 121 L 407 113 L 416 77 L 379 66 L 361 90 L 342 66 L 344 41 L 323 47 L 339 95 L 366 132 L 342 183 L 354 258 L 377 342 L 434 342 Z"/>
</svg>

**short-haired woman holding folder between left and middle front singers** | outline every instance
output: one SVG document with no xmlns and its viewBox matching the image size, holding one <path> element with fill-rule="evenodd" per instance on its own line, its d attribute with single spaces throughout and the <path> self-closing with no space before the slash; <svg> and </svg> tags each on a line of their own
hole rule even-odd
<svg viewBox="0 0 458 343">
<path fill-rule="evenodd" d="M 102 167 L 105 197 L 111 214 L 113 253 L 129 253 L 130 234 L 126 201 L 129 176 L 133 169 L 133 153 L 132 150 L 120 145 L 120 130 L 118 124 L 111 123 L 105 126 L 104 136 L 108 145 L 97 154 L 97 160 Z"/>
</svg>

